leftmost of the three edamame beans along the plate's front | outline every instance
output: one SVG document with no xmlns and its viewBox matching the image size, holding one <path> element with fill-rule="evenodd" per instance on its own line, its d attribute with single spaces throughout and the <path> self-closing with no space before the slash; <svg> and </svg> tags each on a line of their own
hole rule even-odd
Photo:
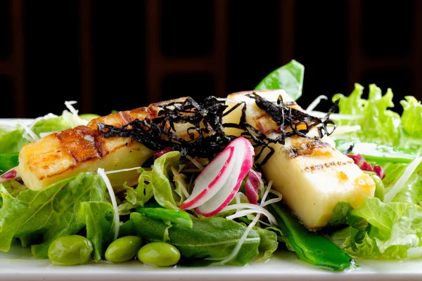
<svg viewBox="0 0 422 281">
<path fill-rule="evenodd" d="M 91 258 L 93 247 L 87 237 L 70 235 L 58 237 L 49 247 L 49 259 L 59 266 L 85 264 Z"/>
</svg>

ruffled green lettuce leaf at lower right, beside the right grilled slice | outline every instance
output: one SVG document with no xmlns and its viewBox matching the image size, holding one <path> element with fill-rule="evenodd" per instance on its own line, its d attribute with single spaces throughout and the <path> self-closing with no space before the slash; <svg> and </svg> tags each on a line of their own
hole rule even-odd
<svg viewBox="0 0 422 281">
<path fill-rule="evenodd" d="M 347 221 L 350 228 L 331 238 L 354 256 L 406 259 L 409 249 L 422 245 L 422 208 L 418 204 L 383 203 L 367 197 L 362 207 L 350 211 Z"/>
</svg>

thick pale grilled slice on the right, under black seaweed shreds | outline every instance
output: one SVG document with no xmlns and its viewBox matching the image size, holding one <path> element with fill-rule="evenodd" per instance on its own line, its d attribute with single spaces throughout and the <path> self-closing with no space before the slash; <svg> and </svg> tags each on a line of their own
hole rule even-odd
<svg viewBox="0 0 422 281">
<path fill-rule="evenodd" d="M 246 122 L 255 126 L 269 138 L 279 136 L 280 129 L 275 122 L 248 98 L 248 93 L 229 95 L 228 100 L 246 104 Z M 255 91 L 263 98 L 276 101 L 279 95 L 284 102 L 293 101 L 285 91 Z M 228 102 L 229 109 L 234 103 Z M 292 105 L 302 110 L 298 105 Z M 238 124 L 241 107 L 231 112 L 224 123 Z M 238 129 L 227 129 L 227 133 L 238 135 Z M 308 136 L 317 136 L 310 131 Z M 286 138 L 285 145 L 271 144 L 274 155 L 262 166 L 264 178 L 273 181 L 272 187 L 283 195 L 283 201 L 309 229 L 326 226 L 338 202 L 349 202 L 360 207 L 365 197 L 373 197 L 375 183 L 364 174 L 352 159 L 335 150 L 331 138 L 322 139 Z"/>
</svg>

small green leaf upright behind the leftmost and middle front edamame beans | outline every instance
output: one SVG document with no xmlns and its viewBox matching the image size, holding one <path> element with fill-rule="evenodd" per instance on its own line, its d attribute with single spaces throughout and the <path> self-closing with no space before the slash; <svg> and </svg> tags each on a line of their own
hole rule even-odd
<svg viewBox="0 0 422 281">
<path fill-rule="evenodd" d="M 94 247 L 94 260 L 100 261 L 114 238 L 113 205 L 108 202 L 82 202 L 78 216 L 86 225 L 87 238 Z"/>
</svg>

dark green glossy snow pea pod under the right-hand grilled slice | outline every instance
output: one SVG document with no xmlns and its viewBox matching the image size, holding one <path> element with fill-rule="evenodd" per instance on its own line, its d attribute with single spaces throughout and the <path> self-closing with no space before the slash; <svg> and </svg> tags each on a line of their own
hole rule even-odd
<svg viewBox="0 0 422 281">
<path fill-rule="evenodd" d="M 342 271 L 354 264 L 345 251 L 337 247 L 328 237 L 313 233 L 303 226 L 286 207 L 270 204 L 269 211 L 276 217 L 279 227 L 286 233 L 288 242 L 303 261 L 314 266 Z"/>
</svg>

